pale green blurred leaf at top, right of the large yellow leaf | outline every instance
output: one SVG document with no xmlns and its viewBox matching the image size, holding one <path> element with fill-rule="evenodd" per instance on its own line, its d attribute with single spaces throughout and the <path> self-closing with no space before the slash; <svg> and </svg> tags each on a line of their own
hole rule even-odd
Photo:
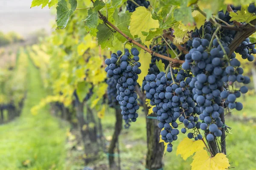
<svg viewBox="0 0 256 170">
<path fill-rule="evenodd" d="M 184 25 L 193 24 L 194 18 L 192 17 L 192 11 L 190 7 L 176 8 L 173 12 L 175 20 L 182 21 Z"/>
</svg>

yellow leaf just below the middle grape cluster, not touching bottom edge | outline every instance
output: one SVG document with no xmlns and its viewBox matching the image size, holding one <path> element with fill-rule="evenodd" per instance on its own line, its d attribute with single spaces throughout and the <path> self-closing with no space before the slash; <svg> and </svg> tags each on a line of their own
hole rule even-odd
<svg viewBox="0 0 256 170">
<path fill-rule="evenodd" d="M 204 147 L 204 142 L 201 140 L 193 141 L 189 138 L 184 138 L 177 147 L 176 155 L 180 154 L 186 161 L 189 156 L 192 156 L 198 150 L 204 149 Z"/>
</svg>

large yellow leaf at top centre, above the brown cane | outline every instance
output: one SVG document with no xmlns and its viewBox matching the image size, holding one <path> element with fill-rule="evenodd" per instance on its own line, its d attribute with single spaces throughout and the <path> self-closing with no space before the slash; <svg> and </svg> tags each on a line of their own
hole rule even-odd
<svg viewBox="0 0 256 170">
<path fill-rule="evenodd" d="M 143 17 L 142 17 L 143 16 Z M 136 8 L 131 15 L 130 31 L 133 36 L 138 35 L 140 40 L 144 42 L 146 36 L 142 31 L 149 32 L 152 28 L 158 28 L 158 20 L 153 20 L 151 11 L 148 11 L 144 6 Z"/>
</svg>

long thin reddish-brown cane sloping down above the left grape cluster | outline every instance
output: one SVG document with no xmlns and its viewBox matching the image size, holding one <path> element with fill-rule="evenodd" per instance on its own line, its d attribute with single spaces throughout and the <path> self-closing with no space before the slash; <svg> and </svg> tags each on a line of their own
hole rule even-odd
<svg viewBox="0 0 256 170">
<path fill-rule="evenodd" d="M 91 0 L 91 2 L 94 3 L 93 0 Z M 106 18 L 100 11 L 98 11 L 98 13 L 99 13 L 99 18 L 100 18 L 101 20 L 103 20 L 106 25 L 108 24 L 108 25 L 111 26 L 114 30 L 116 30 L 117 32 L 119 32 L 123 37 L 125 37 L 130 43 L 133 43 L 134 45 L 137 45 L 138 47 L 140 47 L 140 48 L 142 48 L 143 50 L 147 51 L 147 52 L 150 53 L 151 55 L 154 55 L 155 57 L 159 57 L 159 58 L 162 58 L 162 59 L 166 59 L 167 61 L 171 61 L 171 62 L 173 62 L 174 64 L 182 64 L 183 62 L 185 62 L 185 61 L 183 61 L 183 60 L 169 58 L 169 57 L 166 57 L 166 56 L 164 56 L 164 55 L 162 55 L 162 54 L 159 54 L 159 53 L 156 53 L 156 52 L 154 52 L 154 51 L 151 51 L 151 50 L 148 49 L 147 47 L 141 45 L 139 42 L 137 42 L 137 41 L 131 39 L 130 37 L 128 37 L 125 33 L 123 33 L 121 30 L 119 30 L 119 28 L 117 28 L 117 27 L 114 26 L 112 23 L 110 23 L 110 22 L 107 20 L 107 18 Z"/>
</svg>

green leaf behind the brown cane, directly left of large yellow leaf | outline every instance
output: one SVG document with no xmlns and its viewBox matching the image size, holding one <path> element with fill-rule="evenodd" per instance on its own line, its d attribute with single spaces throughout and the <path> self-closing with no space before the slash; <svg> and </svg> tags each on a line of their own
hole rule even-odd
<svg viewBox="0 0 256 170">
<path fill-rule="evenodd" d="M 118 9 L 115 10 L 113 14 L 113 19 L 115 20 L 115 26 L 119 28 L 123 33 L 125 33 L 128 37 L 132 37 L 130 30 L 128 29 L 130 21 L 131 21 L 131 13 L 129 11 L 125 11 L 125 13 L 118 13 Z M 115 33 L 117 39 L 121 42 L 125 42 L 127 39 L 123 37 L 119 33 Z"/>
</svg>

